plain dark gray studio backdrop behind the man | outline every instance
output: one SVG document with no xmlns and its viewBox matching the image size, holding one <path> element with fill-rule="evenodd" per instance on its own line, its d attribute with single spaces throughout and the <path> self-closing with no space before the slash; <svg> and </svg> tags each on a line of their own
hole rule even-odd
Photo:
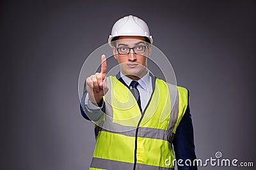
<svg viewBox="0 0 256 170">
<path fill-rule="evenodd" d="M 255 1 L 2 1 L 0 169 L 88 169 L 95 139 L 79 111 L 79 71 L 115 21 L 130 14 L 148 23 L 178 85 L 190 91 L 197 157 L 220 151 L 256 164 L 255 7 Z"/>
</svg>

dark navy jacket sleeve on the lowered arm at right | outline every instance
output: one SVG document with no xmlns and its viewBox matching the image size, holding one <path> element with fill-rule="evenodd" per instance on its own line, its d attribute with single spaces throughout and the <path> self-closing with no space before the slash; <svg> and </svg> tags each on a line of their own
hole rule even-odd
<svg viewBox="0 0 256 170">
<path fill-rule="evenodd" d="M 190 113 L 189 104 L 180 120 L 180 124 L 176 129 L 175 136 L 173 138 L 173 148 L 175 151 L 175 159 L 182 159 L 182 165 L 177 165 L 179 170 L 197 170 L 197 166 L 193 166 L 193 160 L 196 159 L 195 145 L 194 145 L 194 134 L 193 134 L 193 124 Z M 186 166 L 185 160 L 191 160 L 192 166 Z M 189 164 L 189 161 L 187 161 Z"/>
</svg>

